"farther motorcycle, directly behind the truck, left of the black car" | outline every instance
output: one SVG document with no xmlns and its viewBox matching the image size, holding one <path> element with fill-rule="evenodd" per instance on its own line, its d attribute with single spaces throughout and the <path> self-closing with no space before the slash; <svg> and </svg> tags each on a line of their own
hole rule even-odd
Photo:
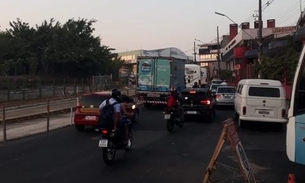
<svg viewBox="0 0 305 183">
<path fill-rule="evenodd" d="M 167 131 L 173 133 L 175 129 L 175 125 L 179 126 L 180 128 L 183 127 L 184 119 L 183 119 L 183 112 L 181 109 L 177 111 L 173 108 L 166 107 L 165 111 L 163 112 L 164 119 L 166 120 L 166 128 Z"/>
</svg>

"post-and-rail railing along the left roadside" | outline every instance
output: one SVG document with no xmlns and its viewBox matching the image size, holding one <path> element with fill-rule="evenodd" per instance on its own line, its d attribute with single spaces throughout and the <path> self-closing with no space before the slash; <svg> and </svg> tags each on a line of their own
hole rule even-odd
<svg viewBox="0 0 305 183">
<path fill-rule="evenodd" d="M 130 97 L 135 96 L 135 93 L 135 89 L 122 89 L 122 94 Z M 23 135 L 49 132 L 54 126 L 63 126 L 60 123 L 72 125 L 76 102 L 77 98 L 74 97 L 23 106 L 7 107 L 2 104 L 0 106 L 0 142 L 7 143 L 8 140 Z"/>
</svg>

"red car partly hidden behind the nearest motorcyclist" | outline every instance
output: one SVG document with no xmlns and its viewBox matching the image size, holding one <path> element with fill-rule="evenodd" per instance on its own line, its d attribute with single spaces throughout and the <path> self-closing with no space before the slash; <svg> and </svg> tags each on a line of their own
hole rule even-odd
<svg viewBox="0 0 305 183">
<path fill-rule="evenodd" d="M 74 114 L 74 125 L 78 131 L 83 131 L 86 126 L 98 126 L 100 114 L 99 105 L 110 98 L 110 91 L 94 92 L 84 94 L 78 98 L 76 111 Z M 134 113 L 130 119 L 132 122 L 139 121 L 139 108 L 132 98 L 122 95 L 122 106 L 127 112 Z"/>
</svg>

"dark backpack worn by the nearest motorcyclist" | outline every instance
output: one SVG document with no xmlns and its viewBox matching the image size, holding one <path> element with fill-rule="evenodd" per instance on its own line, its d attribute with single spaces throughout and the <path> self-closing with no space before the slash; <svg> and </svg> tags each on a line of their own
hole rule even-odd
<svg viewBox="0 0 305 183">
<path fill-rule="evenodd" d="M 101 128 L 109 128 L 113 124 L 114 105 L 116 104 L 118 102 L 110 104 L 109 99 L 106 100 L 106 105 L 103 107 L 99 117 L 99 125 Z"/>
</svg>

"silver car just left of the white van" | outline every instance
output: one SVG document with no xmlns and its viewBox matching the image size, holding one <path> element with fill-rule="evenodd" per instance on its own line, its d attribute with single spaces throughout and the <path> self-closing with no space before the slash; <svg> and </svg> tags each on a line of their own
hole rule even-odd
<svg viewBox="0 0 305 183">
<path fill-rule="evenodd" d="M 215 93 L 216 106 L 234 106 L 235 87 L 218 86 Z"/>
</svg>

